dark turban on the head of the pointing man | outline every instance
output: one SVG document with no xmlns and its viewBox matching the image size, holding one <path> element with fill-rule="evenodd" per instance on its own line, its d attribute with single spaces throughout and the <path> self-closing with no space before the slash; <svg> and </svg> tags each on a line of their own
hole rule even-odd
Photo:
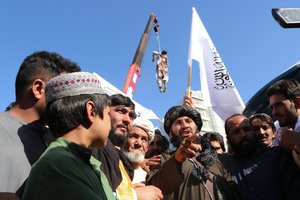
<svg viewBox="0 0 300 200">
<path fill-rule="evenodd" d="M 190 117 L 196 123 L 198 131 L 201 130 L 202 119 L 200 113 L 196 109 L 189 106 L 173 106 L 168 110 L 164 118 L 164 129 L 167 134 L 170 134 L 173 122 L 183 116 Z"/>
</svg>

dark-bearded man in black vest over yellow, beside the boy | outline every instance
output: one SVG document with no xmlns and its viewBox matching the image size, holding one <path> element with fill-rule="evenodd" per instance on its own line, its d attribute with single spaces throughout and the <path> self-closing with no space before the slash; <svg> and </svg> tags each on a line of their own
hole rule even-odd
<svg viewBox="0 0 300 200">
<path fill-rule="evenodd" d="M 111 96 L 110 118 L 112 129 L 106 147 L 94 149 L 93 156 L 101 161 L 101 170 L 107 176 L 113 192 L 119 199 L 162 199 L 161 191 L 157 187 L 134 187 L 132 184 L 133 166 L 121 152 L 128 131 L 136 118 L 134 109 L 135 105 L 129 97 L 121 94 Z"/>
</svg>

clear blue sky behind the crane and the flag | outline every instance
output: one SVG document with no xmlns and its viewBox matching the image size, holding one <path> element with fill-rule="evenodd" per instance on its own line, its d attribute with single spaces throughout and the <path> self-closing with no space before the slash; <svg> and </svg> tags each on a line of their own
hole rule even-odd
<svg viewBox="0 0 300 200">
<path fill-rule="evenodd" d="M 242 99 L 300 60 L 300 29 L 283 29 L 272 8 L 300 7 L 299 0 L 7 0 L 0 2 L 0 110 L 14 101 L 15 76 L 23 59 L 37 50 L 56 51 L 123 88 L 151 12 L 168 51 L 169 87 L 159 93 L 153 31 L 134 99 L 163 118 L 187 86 L 192 7 L 198 11 Z M 194 64 L 192 90 L 200 90 Z"/>
</svg>

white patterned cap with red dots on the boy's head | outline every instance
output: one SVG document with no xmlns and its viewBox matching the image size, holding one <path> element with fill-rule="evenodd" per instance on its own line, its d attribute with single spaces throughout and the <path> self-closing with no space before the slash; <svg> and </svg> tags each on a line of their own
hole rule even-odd
<svg viewBox="0 0 300 200">
<path fill-rule="evenodd" d="M 105 94 L 97 76 L 89 72 L 63 74 L 46 84 L 46 103 L 80 94 Z"/>
</svg>

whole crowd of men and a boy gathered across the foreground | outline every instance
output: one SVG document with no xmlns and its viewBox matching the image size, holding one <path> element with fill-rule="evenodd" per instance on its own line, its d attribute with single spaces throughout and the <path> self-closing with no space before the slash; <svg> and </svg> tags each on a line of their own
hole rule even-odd
<svg viewBox="0 0 300 200">
<path fill-rule="evenodd" d="M 168 139 L 122 94 L 48 51 L 25 58 L 15 102 L 0 113 L 1 199 L 300 198 L 300 84 L 267 92 L 272 118 L 225 121 L 230 151 L 184 97 L 164 116 Z M 169 150 L 169 141 L 174 150 Z"/>
</svg>

